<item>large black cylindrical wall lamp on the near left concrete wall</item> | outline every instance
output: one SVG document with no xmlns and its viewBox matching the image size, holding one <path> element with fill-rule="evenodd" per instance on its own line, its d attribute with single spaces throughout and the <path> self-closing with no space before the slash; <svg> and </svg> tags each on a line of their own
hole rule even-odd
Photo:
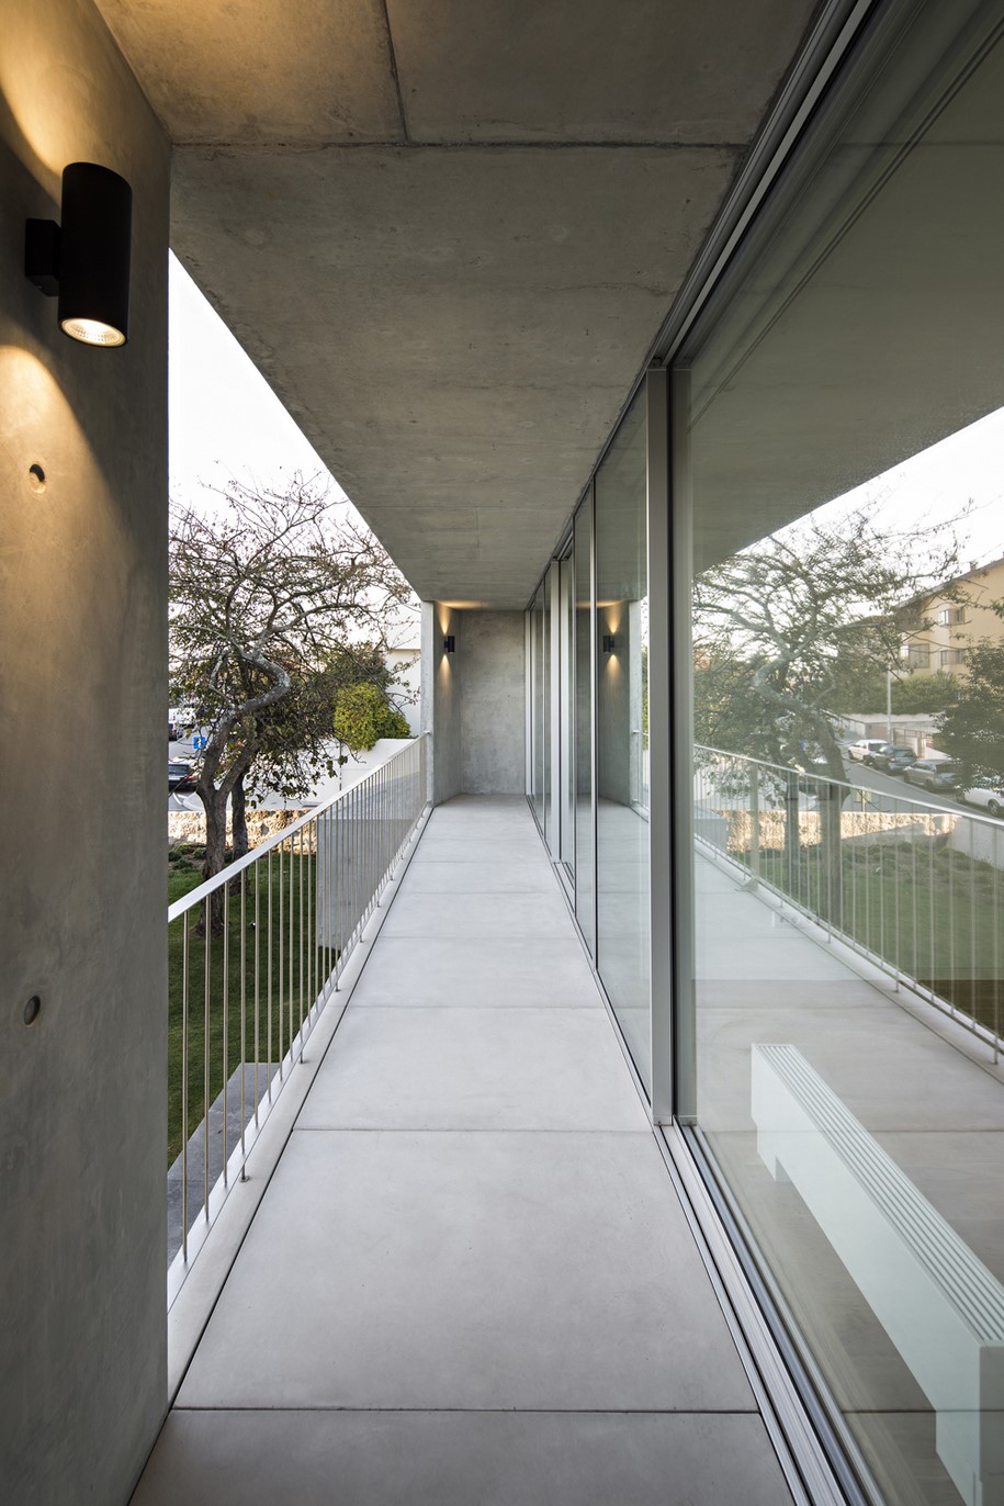
<svg viewBox="0 0 1004 1506">
<path fill-rule="evenodd" d="M 63 223 L 29 220 L 24 273 L 39 292 L 59 295 L 63 334 L 84 345 L 129 337 L 132 190 L 96 163 L 63 169 Z"/>
</svg>

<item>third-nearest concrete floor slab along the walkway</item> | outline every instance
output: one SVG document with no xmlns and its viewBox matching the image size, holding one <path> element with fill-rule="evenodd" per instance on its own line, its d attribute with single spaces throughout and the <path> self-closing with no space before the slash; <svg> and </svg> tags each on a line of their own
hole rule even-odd
<svg viewBox="0 0 1004 1506">
<path fill-rule="evenodd" d="M 349 1009 L 300 1130 L 646 1130 L 602 1012 Z"/>
</svg>

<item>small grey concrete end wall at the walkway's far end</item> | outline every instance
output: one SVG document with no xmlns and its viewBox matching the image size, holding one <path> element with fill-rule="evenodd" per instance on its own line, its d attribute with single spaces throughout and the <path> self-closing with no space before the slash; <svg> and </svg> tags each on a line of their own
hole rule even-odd
<svg viewBox="0 0 1004 1506">
<path fill-rule="evenodd" d="M 453 634 L 456 652 L 443 652 Z M 423 727 L 434 733 L 435 804 L 453 795 L 524 795 L 525 616 L 426 602 Z"/>
</svg>

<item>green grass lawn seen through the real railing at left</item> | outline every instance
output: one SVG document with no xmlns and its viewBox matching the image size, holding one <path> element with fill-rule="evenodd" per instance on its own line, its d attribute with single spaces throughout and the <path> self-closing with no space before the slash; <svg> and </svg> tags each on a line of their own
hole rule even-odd
<svg viewBox="0 0 1004 1506">
<path fill-rule="evenodd" d="M 200 854 L 175 849 L 169 869 L 169 904 L 181 899 L 202 883 Z M 291 1036 L 306 1018 L 321 985 L 319 968 L 333 964 L 331 952 L 307 946 L 307 926 L 313 922 L 315 858 L 278 852 L 272 857 L 271 883 L 268 872 L 239 875 L 230 886 L 227 905 L 227 967 L 224 977 L 224 935 L 209 938 L 209 1104 L 223 1090 L 224 1077 L 241 1065 L 241 938 L 244 938 L 244 1053 L 247 1062 L 256 1056 L 256 956 L 257 956 L 257 1060 L 278 1063 L 289 1050 Z M 247 880 L 244 923 L 241 923 L 241 880 Z M 271 928 L 268 901 L 272 901 Z M 205 1041 L 206 1041 L 206 940 L 196 934 L 200 910 L 188 917 L 188 1134 L 202 1120 L 205 1104 Z M 301 932 L 303 916 L 303 932 Z M 182 1000 L 184 1000 L 184 932 L 185 922 L 167 928 L 167 1164 L 182 1148 Z M 303 935 L 303 946 L 301 946 Z M 271 947 L 269 947 L 271 941 Z M 291 944 L 292 941 L 292 944 Z M 257 943 L 257 947 L 256 947 Z M 271 1009 L 269 1009 L 271 982 Z M 226 994 L 226 1011 L 224 1011 Z M 269 1041 L 271 1018 L 271 1041 Z M 224 1032 L 226 1020 L 226 1032 Z M 226 1063 L 224 1063 L 226 1033 Z M 268 1077 L 259 1074 L 259 1095 Z M 248 1117 L 251 1096 L 245 1099 Z"/>
</svg>

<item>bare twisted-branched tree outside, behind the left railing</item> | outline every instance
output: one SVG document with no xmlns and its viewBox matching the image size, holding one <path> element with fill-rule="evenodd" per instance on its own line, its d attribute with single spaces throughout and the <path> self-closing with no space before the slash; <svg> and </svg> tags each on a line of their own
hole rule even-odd
<svg viewBox="0 0 1004 1506">
<path fill-rule="evenodd" d="M 268 753 L 277 780 L 321 756 L 318 720 L 292 714 L 297 702 L 354 642 L 381 646 L 391 604 L 408 598 L 378 539 L 316 482 L 297 476 L 284 492 L 232 482 L 220 497 L 215 515 L 175 509 L 170 532 L 172 684 L 208 738 L 196 785 L 206 878 L 224 864 L 227 800 L 236 792 L 242 812 L 254 761 Z"/>
</svg>

